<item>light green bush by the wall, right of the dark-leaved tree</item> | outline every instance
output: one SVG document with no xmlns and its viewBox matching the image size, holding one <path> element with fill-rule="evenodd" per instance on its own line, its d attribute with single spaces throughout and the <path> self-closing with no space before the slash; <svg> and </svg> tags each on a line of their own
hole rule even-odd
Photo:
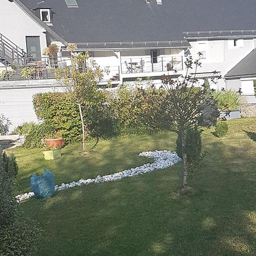
<svg viewBox="0 0 256 256">
<path fill-rule="evenodd" d="M 233 90 L 213 92 L 213 97 L 217 101 L 218 109 L 222 111 L 236 110 L 240 106 L 239 95 Z"/>
</svg>

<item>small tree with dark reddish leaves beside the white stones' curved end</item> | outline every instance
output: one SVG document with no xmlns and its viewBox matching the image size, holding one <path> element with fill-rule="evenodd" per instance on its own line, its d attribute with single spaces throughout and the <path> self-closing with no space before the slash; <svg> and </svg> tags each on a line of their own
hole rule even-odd
<svg viewBox="0 0 256 256">
<path fill-rule="evenodd" d="M 203 86 L 198 87 L 199 79 L 196 73 L 197 68 L 201 66 L 200 61 L 193 61 L 192 57 L 188 57 L 185 66 L 184 76 L 177 79 L 170 76 L 162 77 L 163 96 L 157 102 L 159 108 L 155 119 L 158 121 L 158 126 L 179 134 L 177 151 L 183 158 L 183 189 L 187 190 L 188 177 L 195 169 L 195 163 L 201 158 L 199 126 L 210 126 L 216 123 L 220 112 L 217 109 L 217 97 L 213 97 L 209 83 L 205 82 Z M 193 68 L 195 71 L 191 75 L 190 71 Z M 213 72 L 210 81 L 216 83 L 218 79 L 220 76 L 217 72 Z"/>
</svg>

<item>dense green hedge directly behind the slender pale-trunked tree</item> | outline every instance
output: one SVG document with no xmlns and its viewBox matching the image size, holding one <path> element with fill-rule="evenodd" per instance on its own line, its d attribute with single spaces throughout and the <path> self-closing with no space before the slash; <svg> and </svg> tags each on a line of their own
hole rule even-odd
<svg viewBox="0 0 256 256">
<path fill-rule="evenodd" d="M 107 96 L 106 92 L 98 90 L 94 95 L 97 104 L 92 102 L 87 109 L 82 106 L 90 137 L 109 138 L 117 135 Z M 39 93 L 34 96 L 33 104 L 38 118 L 44 125 L 47 123 L 48 127 L 52 127 L 50 132 L 59 131 L 65 143 L 81 141 L 79 109 L 68 93 Z"/>
</svg>

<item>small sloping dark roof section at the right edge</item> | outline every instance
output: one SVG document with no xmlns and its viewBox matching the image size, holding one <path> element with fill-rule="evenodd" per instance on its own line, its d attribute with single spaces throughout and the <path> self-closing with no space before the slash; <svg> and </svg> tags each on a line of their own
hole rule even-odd
<svg viewBox="0 0 256 256">
<path fill-rule="evenodd" d="M 226 73 L 225 78 L 241 78 L 256 76 L 256 48 Z"/>
</svg>

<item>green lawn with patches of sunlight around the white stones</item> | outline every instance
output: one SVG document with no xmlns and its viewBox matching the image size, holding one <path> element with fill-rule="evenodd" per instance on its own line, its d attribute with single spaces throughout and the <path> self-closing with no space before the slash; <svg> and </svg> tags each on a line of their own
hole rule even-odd
<svg viewBox="0 0 256 256">
<path fill-rule="evenodd" d="M 44 230 L 36 255 L 256 255 L 256 118 L 229 121 L 225 138 L 210 132 L 203 135 L 208 154 L 191 181 L 192 194 L 177 194 L 179 163 L 22 203 Z M 88 156 L 69 146 L 55 162 L 40 150 L 16 148 L 19 190 L 29 191 L 30 175 L 44 167 L 56 184 L 110 174 L 151 160 L 139 152 L 175 150 L 175 140 L 163 133 L 102 141 Z"/>
</svg>

